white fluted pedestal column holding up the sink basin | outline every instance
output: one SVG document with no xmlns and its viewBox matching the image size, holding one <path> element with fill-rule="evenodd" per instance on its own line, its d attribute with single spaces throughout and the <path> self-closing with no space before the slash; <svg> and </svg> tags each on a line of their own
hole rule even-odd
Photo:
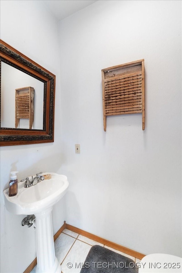
<svg viewBox="0 0 182 273">
<path fill-rule="evenodd" d="M 50 207 L 41 213 L 35 214 L 37 244 L 36 273 L 61 272 L 61 265 L 55 257 L 52 208 Z"/>
</svg>

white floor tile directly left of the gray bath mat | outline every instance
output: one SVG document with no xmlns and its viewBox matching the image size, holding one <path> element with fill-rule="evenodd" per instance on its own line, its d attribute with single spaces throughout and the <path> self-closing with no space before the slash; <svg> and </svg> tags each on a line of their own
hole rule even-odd
<svg viewBox="0 0 182 273">
<path fill-rule="evenodd" d="M 65 260 L 61 264 L 63 273 L 79 273 L 86 256 L 91 248 L 91 245 L 76 240 L 73 247 L 69 251 Z M 73 266 L 72 266 L 73 265 Z M 69 266 L 71 268 L 69 268 Z"/>
</svg>

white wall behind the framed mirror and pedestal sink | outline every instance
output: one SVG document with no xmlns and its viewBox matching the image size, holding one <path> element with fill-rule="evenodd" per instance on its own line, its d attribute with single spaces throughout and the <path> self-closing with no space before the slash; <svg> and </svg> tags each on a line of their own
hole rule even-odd
<svg viewBox="0 0 182 273">
<path fill-rule="evenodd" d="M 56 75 L 55 142 L 1 147 L 1 272 L 24 272 L 36 257 L 36 234 L 22 227 L 25 217 L 7 212 L 3 190 L 10 171 L 19 171 L 18 180 L 39 171 L 60 173 L 61 113 L 57 23 L 41 1 L 1 1 L 1 39 Z M 53 233 L 65 220 L 63 200 L 53 209 Z"/>
</svg>

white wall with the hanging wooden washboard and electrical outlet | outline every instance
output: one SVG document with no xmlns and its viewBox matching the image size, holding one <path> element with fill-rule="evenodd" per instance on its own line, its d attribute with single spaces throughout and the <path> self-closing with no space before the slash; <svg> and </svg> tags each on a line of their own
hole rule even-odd
<svg viewBox="0 0 182 273">
<path fill-rule="evenodd" d="M 59 36 L 67 223 L 181 256 L 181 1 L 98 1 Z M 145 130 L 133 114 L 104 132 L 101 69 L 143 58 Z"/>
</svg>

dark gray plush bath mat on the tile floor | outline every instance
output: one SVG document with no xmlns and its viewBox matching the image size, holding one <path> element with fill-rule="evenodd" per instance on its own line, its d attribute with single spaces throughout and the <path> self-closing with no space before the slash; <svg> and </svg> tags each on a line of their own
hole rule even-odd
<svg viewBox="0 0 182 273">
<path fill-rule="evenodd" d="M 130 258 L 100 245 L 94 245 L 80 273 L 138 273 L 138 268 Z"/>
</svg>

